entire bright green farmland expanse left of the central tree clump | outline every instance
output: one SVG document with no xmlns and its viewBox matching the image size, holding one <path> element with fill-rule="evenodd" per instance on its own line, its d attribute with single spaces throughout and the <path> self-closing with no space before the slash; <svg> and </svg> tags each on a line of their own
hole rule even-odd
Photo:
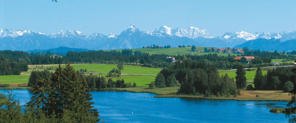
<svg viewBox="0 0 296 123">
<path fill-rule="evenodd" d="M 74 69 L 87 69 L 87 71 L 104 73 L 97 74 L 97 76 L 107 76 L 107 73 L 112 68 L 116 68 L 116 64 L 71 64 Z M 36 67 L 37 66 L 37 67 Z M 29 70 L 22 72 L 21 75 L 0 76 L 0 83 L 2 84 L 23 84 L 28 83 L 30 74 L 34 70 L 43 70 L 47 67 L 58 67 L 58 65 L 32 65 Z M 65 65 L 62 65 L 64 67 Z M 138 87 L 148 87 L 148 84 L 155 80 L 155 75 L 161 70 L 158 68 L 149 68 L 141 66 L 123 65 L 124 69 L 121 71 L 123 75 L 120 77 L 112 77 L 112 80 L 124 79 L 125 83 L 136 83 Z M 54 70 L 51 70 L 54 72 Z M 139 75 L 138 75 L 139 74 Z M 145 74 L 145 75 L 142 75 Z M 108 79 L 108 77 L 106 78 Z"/>
</svg>

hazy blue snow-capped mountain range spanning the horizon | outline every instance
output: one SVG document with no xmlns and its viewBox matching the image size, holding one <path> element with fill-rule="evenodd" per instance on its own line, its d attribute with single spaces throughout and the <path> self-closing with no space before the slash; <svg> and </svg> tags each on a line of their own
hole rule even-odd
<svg viewBox="0 0 296 123">
<path fill-rule="evenodd" d="M 84 35 L 80 31 L 59 31 L 46 35 L 28 30 L 0 29 L 0 50 L 29 51 L 52 49 L 60 46 L 89 50 L 131 49 L 156 45 L 195 45 L 205 47 L 249 47 L 249 49 L 291 51 L 296 50 L 296 31 L 291 32 L 225 32 L 211 36 L 207 30 L 195 27 L 188 29 L 162 26 L 154 31 L 141 31 L 131 25 L 119 35 L 93 33 Z M 264 44 L 264 46 L 262 46 Z"/>
</svg>

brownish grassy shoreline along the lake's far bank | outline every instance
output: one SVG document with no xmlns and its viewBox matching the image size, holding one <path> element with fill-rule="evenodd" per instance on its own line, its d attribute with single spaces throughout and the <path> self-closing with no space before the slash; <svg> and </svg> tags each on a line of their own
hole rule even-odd
<svg viewBox="0 0 296 123">
<path fill-rule="evenodd" d="M 8 87 L 8 88 L 0 88 L 2 90 L 29 90 L 30 87 Z M 153 93 L 156 94 L 155 98 L 190 98 L 190 99 L 215 99 L 215 100 L 236 100 L 236 101 L 290 101 L 291 96 L 287 96 L 288 93 L 280 92 L 280 91 L 246 91 L 241 90 L 241 95 L 238 97 L 233 97 L 233 95 L 226 96 L 215 96 L 212 95 L 210 97 L 204 97 L 204 95 L 178 95 L 177 90 L 179 87 L 167 87 L 162 89 L 148 89 L 148 87 L 136 87 L 136 88 L 113 88 L 113 89 L 95 89 L 90 91 L 115 91 L 115 92 L 137 92 L 137 93 Z M 252 93 L 253 92 L 253 93 Z M 267 93 L 269 92 L 269 93 Z M 259 94 L 259 97 L 251 96 L 251 94 Z M 261 93 L 261 94 L 260 94 Z M 262 93 L 267 93 L 271 95 L 263 95 Z M 276 93 L 276 94 L 275 94 Z M 278 94 L 280 93 L 280 95 Z M 254 95 L 255 95 L 254 94 Z M 273 95 L 274 94 L 274 95 Z M 282 95 L 284 95 L 283 98 Z M 269 97 L 271 96 L 271 97 Z M 277 97 L 276 97 L 277 96 Z M 278 97 L 280 96 L 280 97 Z M 290 97 L 290 98 L 288 98 Z"/>
</svg>

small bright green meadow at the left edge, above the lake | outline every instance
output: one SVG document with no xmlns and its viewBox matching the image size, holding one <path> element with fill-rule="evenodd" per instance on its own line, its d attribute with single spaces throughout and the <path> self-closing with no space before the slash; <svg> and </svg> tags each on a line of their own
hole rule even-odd
<svg viewBox="0 0 296 123">
<path fill-rule="evenodd" d="M 28 83 L 29 75 L 7 75 L 0 76 L 0 83 L 2 84 L 23 84 Z"/>
</svg>

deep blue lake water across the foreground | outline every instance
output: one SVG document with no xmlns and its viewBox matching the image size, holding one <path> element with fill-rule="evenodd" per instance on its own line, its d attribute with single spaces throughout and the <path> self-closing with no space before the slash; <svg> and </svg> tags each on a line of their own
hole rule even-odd
<svg viewBox="0 0 296 123">
<path fill-rule="evenodd" d="M 0 93 L 8 95 L 7 91 Z M 25 104 L 28 90 L 13 90 Z M 186 98 L 153 98 L 152 93 L 91 92 L 94 108 L 106 123 L 286 123 L 284 114 L 270 113 L 281 101 L 235 101 Z"/>
</svg>

